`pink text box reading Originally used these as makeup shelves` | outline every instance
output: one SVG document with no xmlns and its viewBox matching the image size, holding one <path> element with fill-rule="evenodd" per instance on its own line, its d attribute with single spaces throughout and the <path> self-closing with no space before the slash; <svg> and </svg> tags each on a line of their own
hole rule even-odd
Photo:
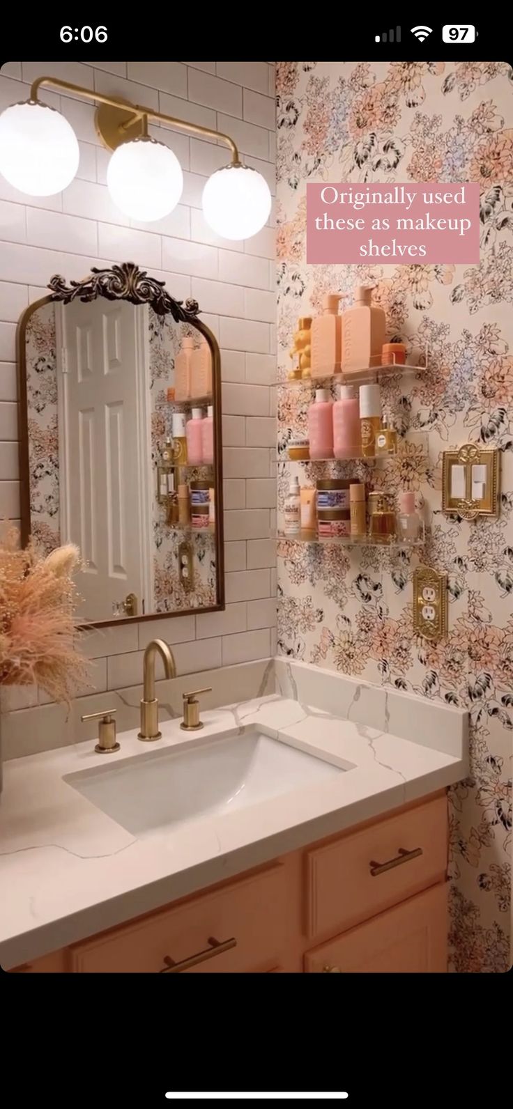
<svg viewBox="0 0 513 1109">
<path fill-rule="evenodd" d="M 480 261 L 479 206 L 476 183 L 309 183 L 306 262 L 474 265 Z M 385 220 L 389 230 L 383 230 Z"/>
</svg>

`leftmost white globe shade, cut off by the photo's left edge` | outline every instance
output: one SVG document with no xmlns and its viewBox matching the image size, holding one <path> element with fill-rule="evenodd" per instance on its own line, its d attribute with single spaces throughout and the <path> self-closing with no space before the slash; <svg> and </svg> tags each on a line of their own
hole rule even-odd
<svg viewBox="0 0 513 1109">
<path fill-rule="evenodd" d="M 39 101 L 11 104 L 0 115 L 0 173 L 29 196 L 53 196 L 79 167 L 77 136 L 68 120 Z"/>
</svg>

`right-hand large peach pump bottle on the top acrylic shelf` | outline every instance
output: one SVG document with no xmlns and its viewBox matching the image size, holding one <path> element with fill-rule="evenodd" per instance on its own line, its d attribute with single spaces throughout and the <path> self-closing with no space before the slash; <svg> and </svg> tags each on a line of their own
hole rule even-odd
<svg viewBox="0 0 513 1109">
<path fill-rule="evenodd" d="M 371 288 L 356 285 L 354 304 L 342 316 L 342 373 L 381 364 L 386 319 L 383 308 L 371 304 Z"/>
</svg>

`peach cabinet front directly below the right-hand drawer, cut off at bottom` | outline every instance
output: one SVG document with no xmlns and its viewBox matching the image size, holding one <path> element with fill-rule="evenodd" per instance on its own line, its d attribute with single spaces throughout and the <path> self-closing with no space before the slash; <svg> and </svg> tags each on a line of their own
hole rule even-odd
<svg viewBox="0 0 513 1109">
<path fill-rule="evenodd" d="M 304 956 L 306 974 L 444 974 L 447 883 L 331 939 Z"/>
</svg>

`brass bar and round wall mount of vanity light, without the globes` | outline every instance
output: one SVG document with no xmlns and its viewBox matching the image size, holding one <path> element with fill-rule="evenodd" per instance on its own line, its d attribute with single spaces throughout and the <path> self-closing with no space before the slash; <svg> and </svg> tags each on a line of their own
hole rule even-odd
<svg viewBox="0 0 513 1109">
<path fill-rule="evenodd" d="M 99 106 L 94 123 L 98 135 L 108 150 L 115 150 L 123 142 L 148 135 L 148 120 L 154 120 L 157 123 L 168 123 L 169 126 L 188 131 L 190 134 L 224 142 L 230 147 L 232 165 L 241 164 L 237 144 L 230 135 L 222 131 L 204 128 L 200 123 L 189 123 L 187 120 L 167 115 L 164 112 L 159 112 L 154 108 L 145 108 L 143 104 L 131 104 L 122 96 L 108 96 L 103 92 L 92 92 L 91 89 L 83 89 L 80 84 L 74 84 L 73 81 L 63 81 L 58 77 L 38 77 L 30 89 L 31 101 L 39 101 L 38 93 L 41 85 L 52 85 L 52 88 L 61 89 L 63 92 L 76 92 L 80 96 L 84 96 L 86 100 L 97 101 Z"/>
</svg>

